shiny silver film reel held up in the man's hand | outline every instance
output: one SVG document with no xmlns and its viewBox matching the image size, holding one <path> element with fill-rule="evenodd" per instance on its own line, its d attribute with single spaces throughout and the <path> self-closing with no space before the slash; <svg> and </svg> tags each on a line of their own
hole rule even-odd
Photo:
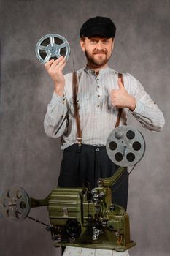
<svg viewBox="0 0 170 256">
<path fill-rule="evenodd" d="M 70 47 L 69 42 L 59 34 L 47 34 L 36 44 L 36 57 L 42 64 L 50 59 L 58 59 L 64 56 L 69 59 Z"/>
</svg>

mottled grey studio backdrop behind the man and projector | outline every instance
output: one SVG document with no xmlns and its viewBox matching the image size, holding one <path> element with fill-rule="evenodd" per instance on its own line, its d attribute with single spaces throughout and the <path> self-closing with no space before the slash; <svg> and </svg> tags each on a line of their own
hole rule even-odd
<svg viewBox="0 0 170 256">
<path fill-rule="evenodd" d="M 152 0 L 1 0 L 0 192 L 18 184 L 36 198 L 45 198 L 57 185 L 60 140 L 47 138 L 43 119 L 53 83 L 36 59 L 36 42 L 45 34 L 68 39 L 76 69 L 85 66 L 79 30 L 95 15 L 112 18 L 117 26 L 110 67 L 129 72 L 144 85 L 166 118 L 163 132 L 142 129 L 146 153 L 130 177 L 128 214 L 131 256 L 167 256 L 169 239 L 169 72 L 170 1 Z M 69 59 L 64 72 L 72 72 Z M 48 223 L 47 208 L 31 217 Z M 45 227 L 30 219 L 0 218 L 0 255 L 60 255 Z M 74 255 L 72 255 L 74 256 Z"/>
</svg>

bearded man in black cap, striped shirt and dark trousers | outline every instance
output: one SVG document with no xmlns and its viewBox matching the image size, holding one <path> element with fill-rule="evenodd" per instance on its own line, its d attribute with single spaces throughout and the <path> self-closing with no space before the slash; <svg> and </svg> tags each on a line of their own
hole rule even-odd
<svg viewBox="0 0 170 256">
<path fill-rule="evenodd" d="M 120 125 L 126 124 L 130 111 L 143 127 L 155 131 L 163 128 L 163 113 L 141 83 L 128 73 L 123 74 L 122 80 L 108 67 L 115 32 L 115 24 L 106 17 L 90 18 L 82 25 L 80 46 L 87 65 L 77 71 L 76 82 L 75 74 L 63 75 L 66 65 L 63 56 L 45 64 L 54 82 L 53 97 L 45 115 L 45 132 L 52 138 L 61 137 L 63 150 L 59 187 L 82 187 L 88 183 L 93 188 L 98 178 L 115 173 L 117 166 L 107 156 L 105 146 L 120 108 Z M 75 90 L 74 83 L 77 83 Z M 112 189 L 115 190 L 113 202 L 126 210 L 127 171 Z"/>
</svg>

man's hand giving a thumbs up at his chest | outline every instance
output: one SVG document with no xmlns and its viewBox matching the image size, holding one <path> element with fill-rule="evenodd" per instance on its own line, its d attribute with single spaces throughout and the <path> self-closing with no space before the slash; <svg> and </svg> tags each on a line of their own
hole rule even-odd
<svg viewBox="0 0 170 256">
<path fill-rule="evenodd" d="M 129 110 L 133 111 L 136 107 L 136 99 L 125 90 L 121 78 L 118 78 L 118 86 L 119 89 L 114 89 L 110 92 L 112 105 L 117 108 L 129 108 Z"/>
</svg>

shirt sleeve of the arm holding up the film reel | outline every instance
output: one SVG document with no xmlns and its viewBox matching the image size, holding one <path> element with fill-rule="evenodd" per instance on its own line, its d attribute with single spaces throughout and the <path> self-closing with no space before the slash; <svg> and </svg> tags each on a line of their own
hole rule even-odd
<svg viewBox="0 0 170 256">
<path fill-rule="evenodd" d="M 47 105 L 44 127 L 45 133 L 51 138 L 58 138 L 66 131 L 68 119 L 66 118 L 66 97 L 60 97 L 55 92 Z"/>
</svg>

